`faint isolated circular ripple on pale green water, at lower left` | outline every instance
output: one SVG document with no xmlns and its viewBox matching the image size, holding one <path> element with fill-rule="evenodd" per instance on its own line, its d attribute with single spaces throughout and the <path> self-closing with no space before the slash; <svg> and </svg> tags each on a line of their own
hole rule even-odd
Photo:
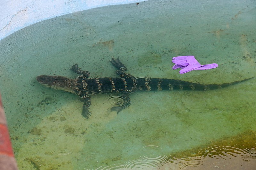
<svg viewBox="0 0 256 170">
<path fill-rule="evenodd" d="M 53 147 L 53 149 L 51 151 L 52 154 L 68 155 L 68 154 L 72 153 L 71 144 L 68 141 L 65 141 L 65 140 L 54 142 L 52 144 L 52 147 Z"/>
</svg>

